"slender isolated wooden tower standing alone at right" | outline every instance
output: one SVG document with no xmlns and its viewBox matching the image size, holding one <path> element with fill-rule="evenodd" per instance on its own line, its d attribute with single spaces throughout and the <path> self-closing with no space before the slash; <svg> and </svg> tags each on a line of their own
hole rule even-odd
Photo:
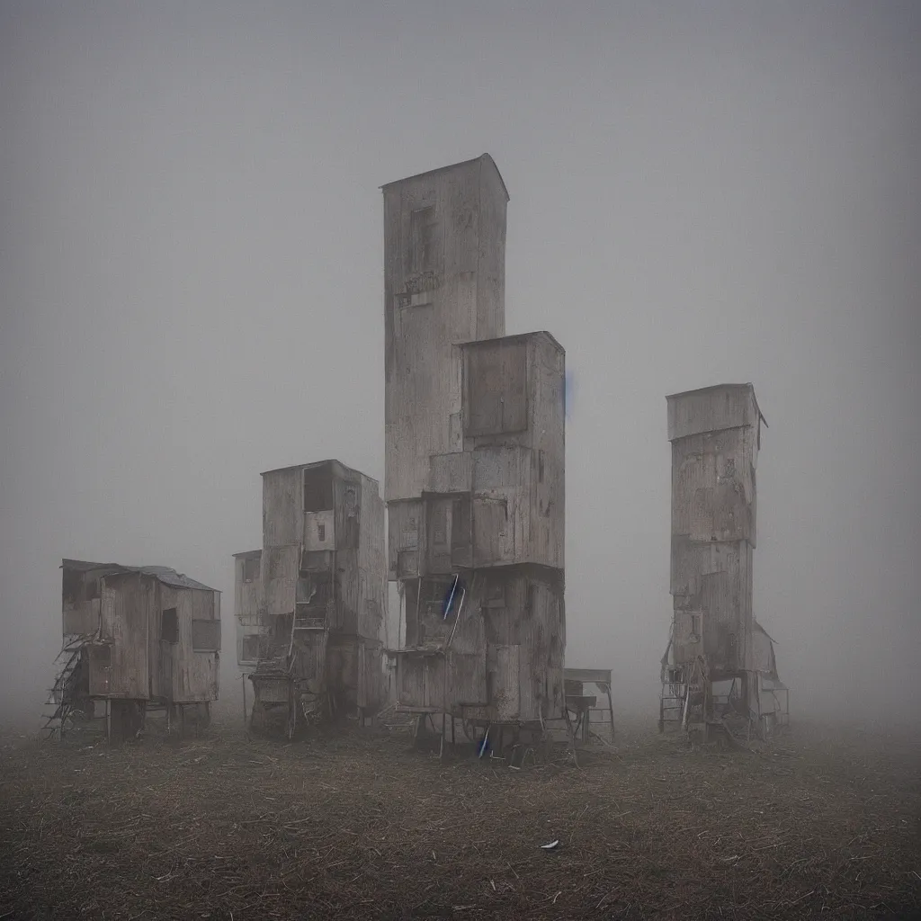
<svg viewBox="0 0 921 921">
<path fill-rule="evenodd" d="M 660 728 L 672 718 L 706 733 L 729 715 L 760 717 L 752 551 L 764 416 L 752 384 L 666 399 L 674 612 Z"/>
</svg>

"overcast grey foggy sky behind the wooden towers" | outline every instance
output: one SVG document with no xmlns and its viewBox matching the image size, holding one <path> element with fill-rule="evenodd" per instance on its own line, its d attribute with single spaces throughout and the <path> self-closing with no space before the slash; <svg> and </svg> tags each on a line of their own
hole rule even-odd
<svg viewBox="0 0 921 921">
<path fill-rule="evenodd" d="M 566 431 L 566 661 L 655 712 L 664 396 L 755 385 L 758 618 L 795 712 L 905 716 L 921 653 L 912 2 L 0 2 L 0 708 L 62 556 L 225 591 L 259 473 L 383 474 L 379 185 L 488 151 L 507 332 Z"/>
</svg>

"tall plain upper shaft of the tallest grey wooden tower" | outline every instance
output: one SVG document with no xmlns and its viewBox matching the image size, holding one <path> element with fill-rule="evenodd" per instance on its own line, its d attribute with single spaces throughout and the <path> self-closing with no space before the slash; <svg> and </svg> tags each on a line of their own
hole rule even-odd
<svg viewBox="0 0 921 921">
<path fill-rule="evenodd" d="M 504 332 L 506 204 L 488 155 L 384 188 L 387 502 L 419 495 L 431 455 L 461 449 L 453 346 Z"/>
</svg>

